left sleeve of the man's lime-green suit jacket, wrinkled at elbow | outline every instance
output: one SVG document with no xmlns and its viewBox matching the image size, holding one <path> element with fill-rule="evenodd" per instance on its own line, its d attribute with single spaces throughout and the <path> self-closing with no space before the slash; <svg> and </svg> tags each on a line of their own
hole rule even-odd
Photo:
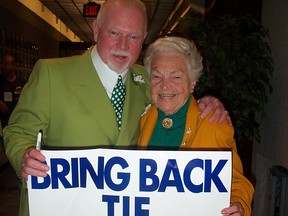
<svg viewBox="0 0 288 216">
<path fill-rule="evenodd" d="M 48 125 L 49 118 L 49 79 L 48 73 L 41 71 L 41 61 L 24 86 L 18 104 L 11 114 L 9 124 L 4 128 L 6 155 L 18 175 L 21 175 L 21 160 L 27 148 L 35 146 L 39 129 Z M 40 121 L 39 121 L 40 120 Z"/>
</svg>

